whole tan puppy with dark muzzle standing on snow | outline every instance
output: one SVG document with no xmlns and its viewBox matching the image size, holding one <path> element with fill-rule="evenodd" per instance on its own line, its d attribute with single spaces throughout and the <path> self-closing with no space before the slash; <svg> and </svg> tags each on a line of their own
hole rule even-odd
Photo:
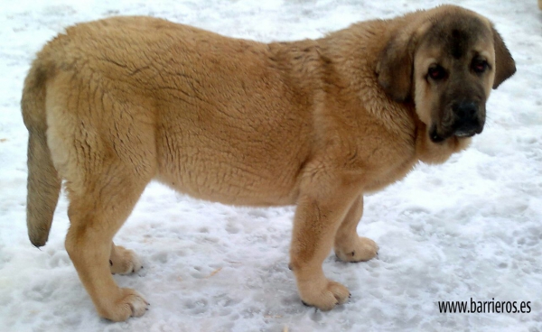
<svg viewBox="0 0 542 332">
<path fill-rule="evenodd" d="M 78 24 L 24 82 L 30 239 L 47 241 L 65 180 L 66 249 L 99 315 L 118 321 L 147 306 L 111 272 L 141 267 L 112 239 L 150 180 L 229 204 L 296 204 L 300 297 L 332 309 L 350 293 L 322 272 L 331 249 L 346 262 L 377 254 L 356 233 L 363 194 L 463 150 L 514 72 L 491 23 L 450 5 L 269 44 L 151 17 Z"/>
</svg>

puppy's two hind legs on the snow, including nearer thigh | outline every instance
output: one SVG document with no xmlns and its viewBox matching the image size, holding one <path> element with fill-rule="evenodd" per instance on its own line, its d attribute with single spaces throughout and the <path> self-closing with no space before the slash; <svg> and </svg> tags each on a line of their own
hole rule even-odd
<svg viewBox="0 0 542 332">
<path fill-rule="evenodd" d="M 94 102 L 84 88 L 73 94 L 76 101 L 64 100 L 61 85 L 51 85 L 50 94 L 48 143 L 70 200 L 66 250 L 100 316 L 142 316 L 145 299 L 119 288 L 111 272 L 140 267 L 132 252 L 114 246 L 113 237 L 156 171 L 149 112 L 105 94 Z"/>
</svg>

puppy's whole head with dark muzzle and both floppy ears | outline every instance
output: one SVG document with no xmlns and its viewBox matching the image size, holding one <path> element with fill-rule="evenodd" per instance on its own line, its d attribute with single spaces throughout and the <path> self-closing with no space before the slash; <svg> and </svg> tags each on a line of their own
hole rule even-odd
<svg viewBox="0 0 542 332">
<path fill-rule="evenodd" d="M 414 100 L 434 143 L 480 134 L 491 88 L 516 71 L 499 33 L 481 15 L 449 5 L 403 20 L 380 55 L 380 85 L 396 101 Z"/>
</svg>

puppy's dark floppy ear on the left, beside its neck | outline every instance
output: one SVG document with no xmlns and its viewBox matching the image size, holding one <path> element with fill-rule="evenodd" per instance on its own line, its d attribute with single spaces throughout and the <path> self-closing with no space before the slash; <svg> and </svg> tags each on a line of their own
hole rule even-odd
<svg viewBox="0 0 542 332">
<path fill-rule="evenodd" d="M 415 45 L 411 34 L 397 32 L 380 53 L 378 83 L 398 102 L 411 96 Z"/>
</svg>

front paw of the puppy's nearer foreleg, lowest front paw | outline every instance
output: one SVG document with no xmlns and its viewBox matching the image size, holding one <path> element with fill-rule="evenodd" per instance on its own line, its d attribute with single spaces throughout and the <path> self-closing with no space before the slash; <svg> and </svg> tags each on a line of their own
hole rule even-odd
<svg viewBox="0 0 542 332">
<path fill-rule="evenodd" d="M 325 280 L 318 284 L 305 284 L 300 287 L 300 296 L 305 306 L 316 307 L 322 311 L 333 309 L 350 298 L 350 291 L 341 283 Z"/>
</svg>

